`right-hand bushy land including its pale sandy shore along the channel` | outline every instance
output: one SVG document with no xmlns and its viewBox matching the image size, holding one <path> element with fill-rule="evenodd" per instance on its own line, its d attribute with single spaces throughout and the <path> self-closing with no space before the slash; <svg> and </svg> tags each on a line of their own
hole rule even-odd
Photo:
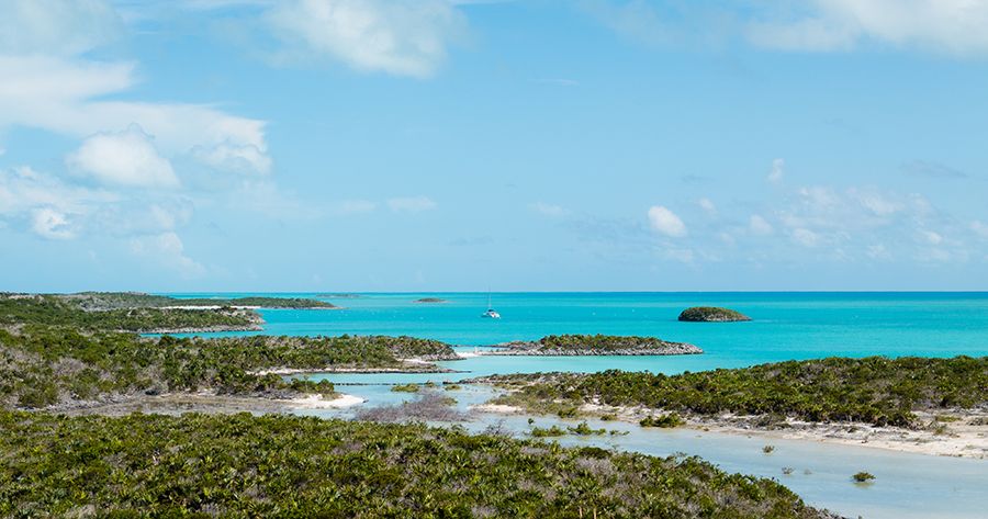
<svg viewBox="0 0 988 519">
<path fill-rule="evenodd" d="M 988 357 L 828 358 L 678 375 L 537 373 L 464 383 L 506 390 L 490 408 L 988 456 L 980 440 L 988 426 Z"/>
</svg>

